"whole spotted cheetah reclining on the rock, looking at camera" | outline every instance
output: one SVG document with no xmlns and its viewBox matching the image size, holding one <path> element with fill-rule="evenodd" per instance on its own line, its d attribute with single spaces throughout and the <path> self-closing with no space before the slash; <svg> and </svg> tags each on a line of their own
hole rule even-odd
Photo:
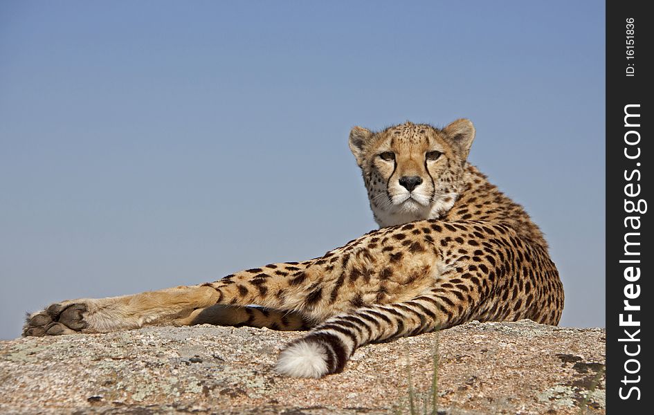
<svg viewBox="0 0 654 415">
<path fill-rule="evenodd" d="M 474 138 L 464 119 L 443 129 L 354 127 L 349 147 L 379 230 L 308 261 L 52 304 L 28 315 L 23 335 L 203 323 L 308 330 L 275 369 L 320 378 L 369 343 L 471 320 L 558 324 L 563 286 L 543 233 L 467 161 Z"/>
</svg>

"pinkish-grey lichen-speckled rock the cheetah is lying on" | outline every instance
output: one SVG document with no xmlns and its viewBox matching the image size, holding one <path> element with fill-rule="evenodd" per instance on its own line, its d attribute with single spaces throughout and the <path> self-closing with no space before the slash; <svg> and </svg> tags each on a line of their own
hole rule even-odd
<svg viewBox="0 0 654 415">
<path fill-rule="evenodd" d="M 436 345 L 439 414 L 604 413 L 603 329 L 471 322 L 363 347 L 320 380 L 275 374 L 300 335 L 203 325 L 0 342 L 0 413 L 409 413 L 409 373 L 423 413 Z"/>
</svg>

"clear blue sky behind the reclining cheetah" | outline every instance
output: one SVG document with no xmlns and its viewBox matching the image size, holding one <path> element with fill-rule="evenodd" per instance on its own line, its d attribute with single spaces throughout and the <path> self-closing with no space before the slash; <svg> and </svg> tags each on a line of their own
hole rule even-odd
<svg viewBox="0 0 654 415">
<path fill-rule="evenodd" d="M 603 3 L 2 1 L 0 338 L 340 246 L 375 228 L 349 129 L 462 117 L 561 324 L 603 326 Z"/>
</svg>

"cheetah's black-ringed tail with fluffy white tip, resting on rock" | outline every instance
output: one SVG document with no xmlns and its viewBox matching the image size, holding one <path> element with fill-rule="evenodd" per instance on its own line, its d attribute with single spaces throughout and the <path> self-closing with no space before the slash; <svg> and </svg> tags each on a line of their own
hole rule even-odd
<svg viewBox="0 0 654 415">
<path fill-rule="evenodd" d="M 282 350 L 275 370 L 295 378 L 322 378 L 343 371 L 357 347 L 434 331 L 446 324 L 435 295 L 409 302 L 357 308 L 336 315 Z"/>
</svg>

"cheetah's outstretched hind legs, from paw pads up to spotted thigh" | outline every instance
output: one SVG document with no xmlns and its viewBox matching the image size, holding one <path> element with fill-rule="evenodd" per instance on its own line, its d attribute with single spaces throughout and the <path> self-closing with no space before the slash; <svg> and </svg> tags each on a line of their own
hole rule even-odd
<svg viewBox="0 0 654 415">
<path fill-rule="evenodd" d="M 24 335 L 200 322 L 306 328 L 363 305 L 410 299 L 433 283 L 433 244 L 415 243 L 403 258 L 399 234 L 401 230 L 392 228 L 370 232 L 323 257 L 269 264 L 198 286 L 53 304 L 28 316 Z M 383 244 L 390 240 L 397 249 Z M 251 304 L 264 309 L 246 308 Z"/>
</svg>

